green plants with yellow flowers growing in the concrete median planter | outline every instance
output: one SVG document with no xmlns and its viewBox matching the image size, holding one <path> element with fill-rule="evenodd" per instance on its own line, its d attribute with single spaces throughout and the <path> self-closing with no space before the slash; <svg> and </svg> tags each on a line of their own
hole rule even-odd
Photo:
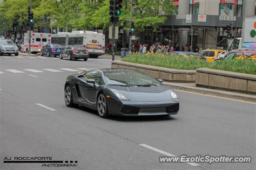
<svg viewBox="0 0 256 170">
<path fill-rule="evenodd" d="M 143 55 L 129 54 L 122 61 L 173 69 L 194 70 L 197 68 L 212 68 L 230 72 L 256 74 L 256 62 L 252 60 L 219 60 L 210 63 L 196 58 L 147 53 Z"/>
</svg>

